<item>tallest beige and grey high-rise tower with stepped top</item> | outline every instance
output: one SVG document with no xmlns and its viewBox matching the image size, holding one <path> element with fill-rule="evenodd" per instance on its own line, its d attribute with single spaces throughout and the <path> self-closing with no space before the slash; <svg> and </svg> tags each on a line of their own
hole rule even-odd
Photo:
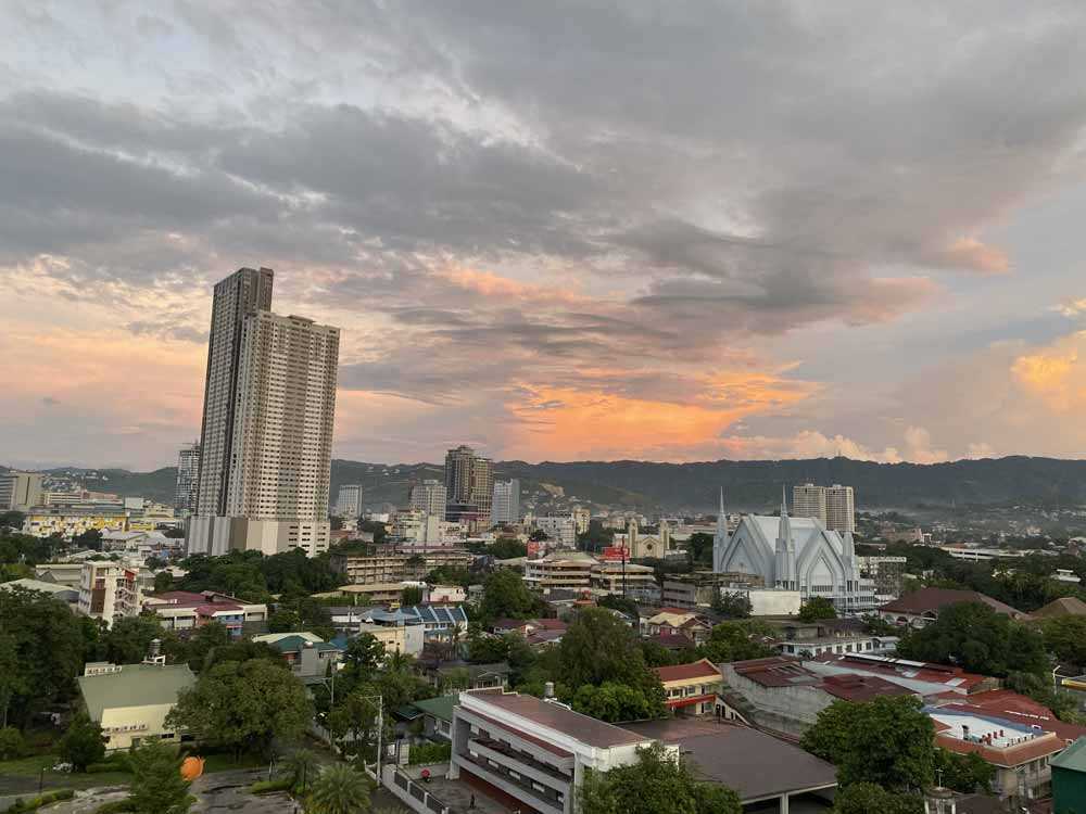
<svg viewBox="0 0 1086 814">
<path fill-rule="evenodd" d="M 190 554 L 328 549 L 339 329 L 273 314 L 272 279 L 215 287 Z"/>
</svg>

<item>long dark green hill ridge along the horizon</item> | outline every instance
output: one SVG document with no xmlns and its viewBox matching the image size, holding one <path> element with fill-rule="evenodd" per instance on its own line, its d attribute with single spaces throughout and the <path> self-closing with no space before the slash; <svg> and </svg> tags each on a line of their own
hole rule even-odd
<svg viewBox="0 0 1086 814">
<path fill-rule="evenodd" d="M 58 469 L 56 472 L 71 472 Z M 176 470 L 153 472 L 123 469 L 85 470 L 89 488 L 173 497 Z M 815 481 L 844 483 L 856 488 L 858 507 L 1028 504 L 1086 505 L 1086 461 L 1010 457 L 961 460 L 952 463 L 873 463 L 848 458 L 783 461 L 709 461 L 652 463 L 646 461 L 574 461 L 569 463 L 495 465 L 498 478 L 519 478 L 526 491 L 540 484 L 561 486 L 567 497 L 595 504 L 642 509 L 711 510 L 723 486 L 730 509 L 768 509 L 779 505 L 782 485 Z M 365 463 L 332 461 L 332 500 L 344 483 L 361 483 L 367 505 L 402 504 L 412 481 L 442 478 L 437 463 Z"/>
</svg>

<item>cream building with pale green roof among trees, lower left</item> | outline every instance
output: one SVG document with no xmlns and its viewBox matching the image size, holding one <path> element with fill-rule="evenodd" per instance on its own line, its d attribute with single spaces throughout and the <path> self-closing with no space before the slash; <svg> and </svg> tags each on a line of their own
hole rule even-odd
<svg viewBox="0 0 1086 814">
<path fill-rule="evenodd" d="M 197 678 L 188 664 L 110 664 L 89 662 L 77 679 L 90 720 L 102 727 L 113 752 L 143 740 L 177 739 L 166 715 Z"/>
</svg>

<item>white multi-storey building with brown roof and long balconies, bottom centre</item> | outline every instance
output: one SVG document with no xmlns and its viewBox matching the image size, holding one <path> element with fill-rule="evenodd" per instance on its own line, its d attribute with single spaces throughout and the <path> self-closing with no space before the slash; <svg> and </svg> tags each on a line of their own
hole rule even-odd
<svg viewBox="0 0 1086 814">
<path fill-rule="evenodd" d="M 572 814 L 586 770 L 635 763 L 653 743 L 559 703 L 492 690 L 460 692 L 451 734 L 450 778 L 540 814 Z"/>
</svg>

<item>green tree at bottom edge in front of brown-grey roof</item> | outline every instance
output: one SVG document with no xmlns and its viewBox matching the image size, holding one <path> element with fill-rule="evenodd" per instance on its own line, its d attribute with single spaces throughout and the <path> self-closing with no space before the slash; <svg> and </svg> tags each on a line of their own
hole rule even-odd
<svg viewBox="0 0 1086 814">
<path fill-rule="evenodd" d="M 609 772 L 589 771 L 578 790 L 581 814 L 740 814 L 738 796 L 700 783 L 661 743 L 637 749 L 637 762 Z"/>
</svg>

